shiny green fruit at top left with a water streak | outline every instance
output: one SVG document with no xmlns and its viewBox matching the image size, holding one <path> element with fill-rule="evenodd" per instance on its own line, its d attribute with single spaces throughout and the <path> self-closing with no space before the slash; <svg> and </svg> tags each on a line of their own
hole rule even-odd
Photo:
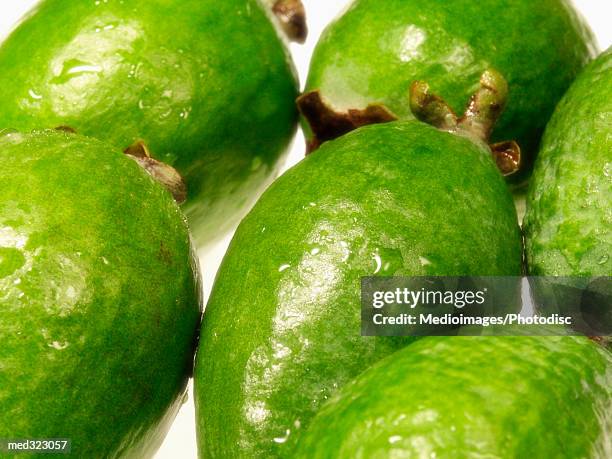
<svg viewBox="0 0 612 459">
<path fill-rule="evenodd" d="M 143 140 L 186 180 L 198 246 L 248 211 L 296 128 L 292 64 L 256 0 L 45 0 L 0 47 L 0 86 L 0 128 Z"/>
</svg>

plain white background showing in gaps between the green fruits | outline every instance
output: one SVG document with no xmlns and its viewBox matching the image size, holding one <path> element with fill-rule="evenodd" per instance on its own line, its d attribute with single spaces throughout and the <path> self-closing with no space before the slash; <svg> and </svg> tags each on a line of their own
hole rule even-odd
<svg viewBox="0 0 612 459">
<path fill-rule="evenodd" d="M 310 34 L 305 45 L 291 45 L 291 51 L 302 83 L 305 81 L 308 73 L 308 63 L 312 50 L 323 28 L 349 3 L 349 0 L 303 1 L 308 13 Z M 19 18 L 36 3 L 37 0 L 0 0 L 0 37 L 8 34 Z M 585 16 L 597 35 L 600 48 L 603 50 L 612 45 L 612 0 L 574 0 L 574 4 Z M 554 44 L 551 44 L 551 46 L 554 46 Z M 0 90 L 3 89 L 0 88 Z M 302 134 L 298 133 L 287 162 L 287 167 L 299 161 L 303 154 L 304 140 Z M 228 235 L 206 255 L 200 254 L 206 296 L 210 292 L 217 267 L 229 240 L 230 236 Z M 193 397 L 190 394 L 189 401 L 179 413 L 165 443 L 157 453 L 156 459 L 196 458 L 194 418 Z"/>
</svg>

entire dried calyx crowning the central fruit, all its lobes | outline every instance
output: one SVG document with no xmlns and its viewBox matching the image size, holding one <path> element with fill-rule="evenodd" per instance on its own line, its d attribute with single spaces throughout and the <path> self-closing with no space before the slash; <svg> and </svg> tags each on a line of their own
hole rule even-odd
<svg viewBox="0 0 612 459">
<path fill-rule="evenodd" d="M 416 118 L 438 129 L 466 135 L 488 144 L 495 122 L 504 110 L 508 85 L 495 70 L 487 70 L 480 77 L 480 87 L 471 97 L 463 116 L 458 117 L 449 105 L 431 93 L 429 85 L 415 81 L 410 87 L 410 109 Z M 364 110 L 338 112 L 326 104 L 319 91 L 300 96 L 298 108 L 308 121 L 313 138 L 308 153 L 323 142 L 333 140 L 358 127 L 397 120 L 384 105 L 369 105 Z M 504 175 L 518 171 L 521 150 L 514 141 L 489 145 L 497 167 Z"/>
</svg>

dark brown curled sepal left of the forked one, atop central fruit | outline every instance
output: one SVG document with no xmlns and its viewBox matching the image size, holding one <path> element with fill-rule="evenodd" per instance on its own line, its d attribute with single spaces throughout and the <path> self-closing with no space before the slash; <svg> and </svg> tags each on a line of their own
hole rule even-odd
<svg viewBox="0 0 612 459">
<path fill-rule="evenodd" d="M 380 104 L 368 105 L 363 110 L 351 109 L 346 112 L 338 112 L 323 100 L 320 91 L 302 94 L 297 99 L 297 106 L 308 121 L 313 133 L 306 154 L 312 153 L 323 142 L 336 139 L 361 126 L 388 123 L 398 119 Z"/>
</svg>

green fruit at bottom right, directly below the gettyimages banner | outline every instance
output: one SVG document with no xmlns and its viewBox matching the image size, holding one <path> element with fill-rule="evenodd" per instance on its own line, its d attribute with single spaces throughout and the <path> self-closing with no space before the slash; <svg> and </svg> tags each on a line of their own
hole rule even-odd
<svg viewBox="0 0 612 459">
<path fill-rule="evenodd" d="M 612 354 L 568 336 L 427 337 L 319 411 L 296 458 L 608 458 Z"/>
</svg>

